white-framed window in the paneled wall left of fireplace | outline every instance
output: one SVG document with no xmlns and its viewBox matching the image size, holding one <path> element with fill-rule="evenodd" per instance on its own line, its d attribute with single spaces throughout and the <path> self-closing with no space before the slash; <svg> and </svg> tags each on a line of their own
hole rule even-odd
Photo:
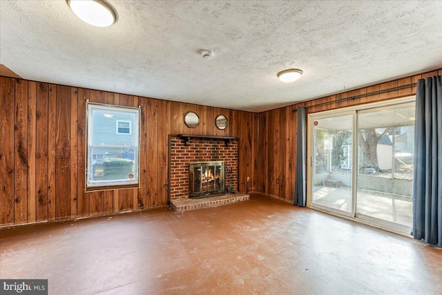
<svg viewBox="0 0 442 295">
<path fill-rule="evenodd" d="M 88 102 L 86 114 L 86 191 L 99 187 L 137 187 L 140 109 Z"/>
</svg>

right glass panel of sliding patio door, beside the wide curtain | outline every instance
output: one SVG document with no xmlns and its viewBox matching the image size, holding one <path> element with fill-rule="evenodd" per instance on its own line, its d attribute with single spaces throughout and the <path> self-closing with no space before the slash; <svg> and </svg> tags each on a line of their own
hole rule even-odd
<svg viewBox="0 0 442 295">
<path fill-rule="evenodd" d="M 414 103 L 358 112 L 356 216 L 410 231 Z"/>
</svg>

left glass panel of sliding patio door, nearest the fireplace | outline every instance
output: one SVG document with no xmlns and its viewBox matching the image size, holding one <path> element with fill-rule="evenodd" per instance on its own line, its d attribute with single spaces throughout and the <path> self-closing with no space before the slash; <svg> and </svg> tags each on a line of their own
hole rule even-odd
<svg viewBox="0 0 442 295">
<path fill-rule="evenodd" d="M 352 112 L 315 117 L 313 125 L 311 203 L 329 211 L 354 214 L 352 198 Z"/>
</svg>

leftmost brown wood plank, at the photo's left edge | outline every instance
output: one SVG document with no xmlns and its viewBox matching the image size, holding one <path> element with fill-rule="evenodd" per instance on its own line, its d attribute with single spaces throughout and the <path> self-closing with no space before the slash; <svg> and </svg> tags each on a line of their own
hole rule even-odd
<svg viewBox="0 0 442 295">
<path fill-rule="evenodd" d="M 12 225 L 15 223 L 15 79 L 0 77 L 0 86 L 0 221 L 2 225 Z"/>
</svg>

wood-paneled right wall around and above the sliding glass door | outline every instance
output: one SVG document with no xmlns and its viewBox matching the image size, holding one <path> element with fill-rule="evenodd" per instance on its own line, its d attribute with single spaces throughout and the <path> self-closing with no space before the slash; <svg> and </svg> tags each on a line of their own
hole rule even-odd
<svg viewBox="0 0 442 295">
<path fill-rule="evenodd" d="M 346 106 L 367 104 L 370 102 L 379 102 L 386 99 L 415 95 L 416 87 L 407 87 L 398 91 L 390 91 L 377 95 L 363 96 L 358 99 L 336 102 L 338 99 L 343 99 L 345 97 L 353 97 L 397 86 L 414 84 L 418 79 L 432 77 L 434 75 L 442 75 L 442 69 L 260 113 L 258 118 L 260 132 L 258 158 L 262 161 L 258 162 L 259 166 L 257 167 L 257 171 L 260 171 L 257 173 L 257 191 L 267 193 L 271 196 L 277 196 L 287 201 L 292 201 L 294 198 L 297 117 L 296 112 L 293 112 L 292 109 L 297 108 L 298 106 L 306 106 L 307 114 L 317 113 L 336 108 L 344 108 Z M 330 104 L 314 106 L 325 102 L 330 102 Z M 308 132 L 309 131 L 307 130 L 307 133 Z"/>
</svg>

